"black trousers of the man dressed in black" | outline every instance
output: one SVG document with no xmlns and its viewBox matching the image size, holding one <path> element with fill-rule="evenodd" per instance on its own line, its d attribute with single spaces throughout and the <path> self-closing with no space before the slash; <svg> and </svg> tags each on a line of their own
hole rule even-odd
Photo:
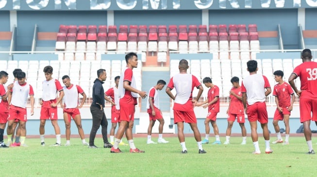
<svg viewBox="0 0 317 177">
<path fill-rule="evenodd" d="M 107 137 L 108 121 L 104 114 L 104 109 L 100 110 L 100 107 L 90 106 L 90 112 L 92 115 L 92 127 L 89 136 L 89 146 L 93 146 L 95 142 L 96 133 L 101 125 L 101 134 L 103 143 L 109 143 Z"/>
</svg>

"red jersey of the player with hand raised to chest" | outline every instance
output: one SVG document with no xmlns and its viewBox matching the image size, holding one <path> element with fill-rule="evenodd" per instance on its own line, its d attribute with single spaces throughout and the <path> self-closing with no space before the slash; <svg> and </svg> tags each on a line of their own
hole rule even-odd
<svg viewBox="0 0 317 177">
<path fill-rule="evenodd" d="M 231 88 L 232 92 L 234 92 L 236 95 L 242 97 L 241 87 L 239 88 Z M 230 106 L 229 106 L 229 113 L 230 114 L 244 114 L 244 107 L 241 100 L 237 99 L 234 95 L 229 96 Z"/>
</svg>

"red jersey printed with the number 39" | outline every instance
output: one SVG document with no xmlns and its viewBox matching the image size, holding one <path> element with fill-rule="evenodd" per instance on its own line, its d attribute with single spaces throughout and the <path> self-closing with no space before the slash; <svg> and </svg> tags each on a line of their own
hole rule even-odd
<svg viewBox="0 0 317 177">
<path fill-rule="evenodd" d="M 293 73 L 300 77 L 300 97 L 317 100 L 317 62 L 303 62 Z"/>
</svg>

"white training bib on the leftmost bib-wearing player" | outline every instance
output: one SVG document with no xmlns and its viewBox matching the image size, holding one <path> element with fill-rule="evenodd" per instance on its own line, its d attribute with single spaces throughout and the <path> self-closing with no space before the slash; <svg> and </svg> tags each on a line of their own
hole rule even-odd
<svg viewBox="0 0 317 177">
<path fill-rule="evenodd" d="M 17 107 L 26 108 L 28 96 L 30 94 L 30 85 L 21 86 L 18 82 L 14 82 L 12 88 L 11 104 Z"/>
</svg>

